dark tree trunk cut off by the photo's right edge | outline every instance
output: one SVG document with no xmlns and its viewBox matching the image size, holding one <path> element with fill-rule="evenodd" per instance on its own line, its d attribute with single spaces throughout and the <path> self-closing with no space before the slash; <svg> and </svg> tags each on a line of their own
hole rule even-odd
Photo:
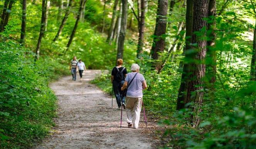
<svg viewBox="0 0 256 149">
<path fill-rule="evenodd" d="M 256 16 L 255 16 L 256 18 Z M 253 55 L 251 58 L 251 80 L 256 80 L 256 22 L 254 26 L 254 32 L 253 32 Z"/>
</svg>

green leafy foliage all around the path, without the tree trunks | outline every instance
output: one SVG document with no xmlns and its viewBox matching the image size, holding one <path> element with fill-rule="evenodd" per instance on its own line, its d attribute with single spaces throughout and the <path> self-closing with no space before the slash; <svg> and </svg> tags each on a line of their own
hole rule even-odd
<svg viewBox="0 0 256 149">
<path fill-rule="evenodd" d="M 173 0 L 172 0 L 173 1 Z M 104 3 L 105 2 L 105 3 Z M 137 2 L 137 1 L 136 1 Z M 216 82 L 209 83 L 211 70 L 207 67 L 204 79 L 204 102 L 200 113 L 190 108 L 176 110 L 177 96 L 183 65 L 191 59 L 184 58 L 185 24 L 187 1 L 176 0 L 167 16 L 165 49 L 159 58 L 150 56 L 157 17 L 157 1 L 148 1 L 145 13 L 144 46 L 142 58 L 136 58 L 138 43 L 138 20 L 134 16 L 139 3 L 128 0 L 128 23 L 124 46 L 124 66 L 132 63 L 141 66 L 148 89 L 144 103 L 149 114 L 162 119 L 167 125 L 163 139 L 165 147 L 191 148 L 255 148 L 256 146 L 256 83 L 251 80 L 251 58 L 255 30 L 255 7 L 253 0 L 217 1 L 215 46 Z M 169 1 L 170 2 L 170 1 Z M 1 1 L 0 5 L 3 6 Z M 66 1 L 64 1 L 66 5 Z M 103 6 L 106 6 L 103 10 Z M 71 13 L 59 39 L 56 36 L 60 21 L 58 1 L 51 1 L 47 30 L 44 33 L 40 58 L 34 62 L 34 52 L 40 31 L 42 2 L 27 3 L 27 31 L 25 45 L 19 44 L 22 17 L 21 3 L 15 1 L 10 20 L 1 32 L 0 43 L 0 147 L 32 146 L 42 139 L 54 125 L 56 97 L 48 87 L 49 81 L 66 75 L 72 56 L 82 59 L 89 69 L 111 71 L 116 63 L 117 43 L 106 42 L 114 0 L 87 0 L 84 21 L 80 20 L 68 51 L 65 51 L 76 22 L 79 0 L 72 3 Z M 135 12 L 132 12 L 133 7 Z M 170 6 L 168 6 L 170 7 Z M 0 7 L 1 12 L 3 7 Z M 64 16 L 63 8 L 61 17 Z M 118 9 L 119 4 L 118 4 Z M 103 15 L 105 14 L 105 15 Z M 104 20 L 104 28 L 103 28 Z M 204 18 L 207 23 L 212 19 Z M 196 32 L 202 35 L 206 28 Z M 211 41 L 211 30 L 206 31 L 206 40 Z M 192 46 L 197 46 L 194 44 Z M 193 53 L 193 51 L 189 51 Z M 155 63 L 163 63 L 161 71 Z M 212 65 L 209 53 L 204 61 Z M 200 63 L 200 62 L 199 62 Z M 110 74 L 103 74 L 93 81 L 104 91 L 111 93 Z M 191 108 L 192 107 L 192 108 Z M 199 116 L 199 127 L 192 127 L 192 116 Z"/>
</svg>

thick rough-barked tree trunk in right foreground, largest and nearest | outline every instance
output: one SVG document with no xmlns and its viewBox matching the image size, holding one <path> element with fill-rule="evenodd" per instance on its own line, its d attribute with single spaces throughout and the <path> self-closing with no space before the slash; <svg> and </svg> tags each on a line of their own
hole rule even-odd
<svg viewBox="0 0 256 149">
<path fill-rule="evenodd" d="M 207 21 L 204 18 L 208 16 L 208 0 L 194 1 L 194 15 L 193 15 L 193 35 L 192 44 L 197 44 L 190 53 L 192 62 L 189 63 L 189 79 L 187 80 L 187 96 L 185 103 L 193 102 L 194 114 L 192 116 L 193 127 L 198 127 L 200 124 L 199 113 L 202 111 L 202 103 L 204 100 L 204 76 L 205 76 L 205 56 L 207 41 L 206 30 Z M 205 31 L 202 31 L 205 30 Z M 200 35 L 195 32 L 201 31 Z"/>
</svg>

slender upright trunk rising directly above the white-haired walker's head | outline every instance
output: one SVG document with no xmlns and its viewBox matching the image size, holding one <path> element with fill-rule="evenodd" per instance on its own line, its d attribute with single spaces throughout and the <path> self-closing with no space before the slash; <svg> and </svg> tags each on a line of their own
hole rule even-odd
<svg viewBox="0 0 256 149">
<path fill-rule="evenodd" d="M 139 40 L 138 40 L 138 47 L 137 47 L 137 58 L 141 59 L 141 54 L 143 53 L 143 46 L 144 46 L 144 30 L 145 30 L 145 0 L 141 0 L 140 3 L 140 17 L 138 20 L 138 29 L 139 29 Z"/>
</svg>

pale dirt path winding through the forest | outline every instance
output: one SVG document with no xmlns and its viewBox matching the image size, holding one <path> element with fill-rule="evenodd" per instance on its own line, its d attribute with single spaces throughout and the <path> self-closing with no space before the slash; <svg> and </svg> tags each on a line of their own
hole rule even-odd
<svg viewBox="0 0 256 149">
<path fill-rule="evenodd" d="M 89 81 L 99 70 L 88 70 L 83 81 L 72 81 L 71 76 L 51 84 L 59 99 L 58 118 L 54 133 L 35 148 L 156 148 L 157 142 L 141 121 L 139 129 L 127 128 L 126 112 L 123 111 L 123 128 L 115 99 L 111 109 L 111 97 Z M 78 75 L 79 78 L 79 75 Z"/>
</svg>

